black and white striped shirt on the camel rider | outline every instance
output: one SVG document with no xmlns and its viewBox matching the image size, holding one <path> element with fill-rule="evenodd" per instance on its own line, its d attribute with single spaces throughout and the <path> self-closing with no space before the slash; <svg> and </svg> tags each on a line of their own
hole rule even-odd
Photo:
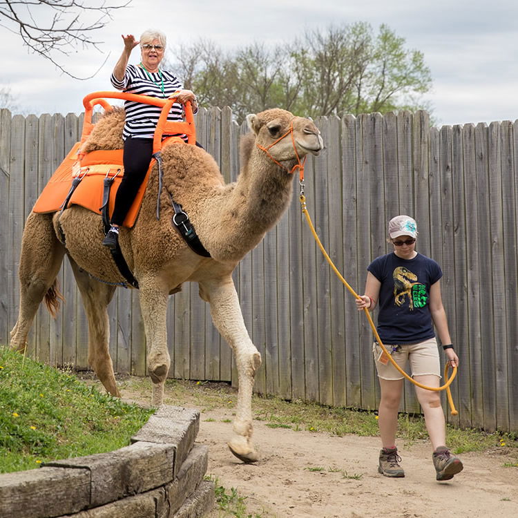
<svg viewBox="0 0 518 518">
<path fill-rule="evenodd" d="M 149 95 L 150 97 L 160 97 L 167 99 L 176 90 L 182 90 L 183 86 L 178 79 L 167 70 L 160 70 L 162 79 L 158 72 L 147 72 L 144 68 L 135 65 L 128 65 L 124 79 L 119 81 L 115 75 L 111 75 L 111 84 L 117 90 L 124 90 L 127 93 L 137 93 L 140 95 Z M 149 79 L 149 76 L 151 79 Z M 162 80 L 164 81 L 164 92 L 162 93 Z M 161 108 L 144 104 L 142 102 L 125 101 L 124 109 L 126 110 L 126 123 L 122 138 L 130 136 L 135 138 L 153 138 L 155 128 L 157 126 L 158 117 L 160 117 Z M 180 103 L 173 104 L 171 111 L 167 117 L 169 121 L 183 120 L 183 106 Z M 166 136 L 166 135 L 164 135 Z M 182 135 L 184 137 L 185 135 Z"/>
</svg>

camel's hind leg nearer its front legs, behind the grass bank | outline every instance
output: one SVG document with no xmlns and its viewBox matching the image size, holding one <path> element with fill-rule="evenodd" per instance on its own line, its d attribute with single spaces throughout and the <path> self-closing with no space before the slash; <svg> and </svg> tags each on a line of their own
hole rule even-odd
<svg viewBox="0 0 518 518">
<path fill-rule="evenodd" d="M 115 286 L 91 278 L 70 256 L 69 259 L 88 319 L 88 363 L 108 394 L 120 397 L 108 348 L 110 343 L 108 304 L 115 293 Z"/>
</svg>

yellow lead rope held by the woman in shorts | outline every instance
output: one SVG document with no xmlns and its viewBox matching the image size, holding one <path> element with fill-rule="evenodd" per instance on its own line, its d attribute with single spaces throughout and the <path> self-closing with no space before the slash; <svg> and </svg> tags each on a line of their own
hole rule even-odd
<svg viewBox="0 0 518 518">
<path fill-rule="evenodd" d="M 315 238 L 316 244 L 318 244 L 320 251 L 322 251 L 322 253 L 324 254 L 324 257 L 326 258 L 327 262 L 329 262 L 329 265 L 334 270 L 334 273 L 336 274 L 336 276 L 338 276 L 338 278 L 343 282 L 345 287 L 351 292 L 351 294 L 354 296 L 354 298 L 361 298 L 356 293 L 356 291 L 354 291 L 354 289 L 352 289 L 352 287 L 349 285 L 347 280 L 345 280 L 343 278 L 343 276 L 340 274 L 338 269 L 336 269 L 336 266 L 333 264 L 333 261 L 331 260 L 329 255 L 327 255 L 327 252 L 325 251 L 325 248 L 323 247 L 322 243 L 320 242 L 320 239 L 318 239 L 318 236 L 315 231 L 315 227 L 313 226 L 313 223 L 311 222 L 311 217 L 309 216 L 309 212 L 307 211 L 306 197 L 305 197 L 305 195 L 303 195 L 302 192 L 300 193 L 300 204 L 302 205 L 303 214 L 306 217 L 307 224 L 309 225 L 309 229 L 311 229 L 311 233 L 313 234 L 313 237 Z M 414 383 L 414 385 L 417 385 L 418 387 L 421 387 L 425 390 L 434 390 L 436 392 L 439 390 L 446 390 L 446 395 L 448 396 L 448 403 L 450 403 L 450 409 L 451 409 L 450 412 L 451 412 L 452 416 L 456 416 L 457 414 L 459 414 L 459 412 L 457 412 L 457 410 L 455 409 L 455 405 L 454 405 L 453 399 L 452 399 L 452 393 L 450 391 L 450 385 L 452 384 L 452 381 L 454 380 L 455 376 L 457 375 L 457 367 L 455 367 L 455 366 L 452 367 L 449 362 L 446 362 L 446 365 L 444 366 L 445 383 L 442 387 L 427 387 L 426 385 L 422 385 L 418 381 L 415 381 L 414 378 L 408 376 L 408 374 L 403 369 L 401 369 L 401 367 L 399 367 L 399 365 L 396 363 L 396 361 L 394 361 L 394 358 L 392 358 L 392 355 L 389 354 L 389 352 L 385 348 L 385 345 L 383 345 L 383 342 L 381 341 L 381 338 L 378 335 L 378 331 L 376 330 L 376 326 L 374 325 L 374 322 L 372 321 L 372 317 L 370 316 L 369 310 L 366 307 L 364 307 L 363 311 L 365 311 L 365 315 L 367 316 L 367 320 L 369 320 L 370 327 L 372 328 L 372 332 L 374 333 L 374 336 L 376 336 L 376 340 L 377 340 L 378 344 L 381 345 L 381 349 L 383 349 L 383 352 L 390 359 L 390 361 L 392 362 L 392 365 L 394 365 L 394 367 L 396 367 L 396 369 L 399 370 L 399 372 L 401 372 L 401 374 L 403 374 L 403 376 L 405 376 L 405 378 L 407 378 L 407 380 L 411 381 L 412 383 Z M 452 369 L 452 376 L 450 378 L 448 378 L 448 369 L 449 368 Z"/>
</svg>

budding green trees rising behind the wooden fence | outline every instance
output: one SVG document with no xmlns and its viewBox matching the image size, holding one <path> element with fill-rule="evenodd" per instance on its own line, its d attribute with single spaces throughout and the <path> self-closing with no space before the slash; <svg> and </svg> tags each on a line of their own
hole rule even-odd
<svg viewBox="0 0 518 518">
<path fill-rule="evenodd" d="M 298 115 L 416 110 L 432 86 L 423 53 L 385 25 L 352 23 L 306 32 L 293 44 L 253 44 L 224 53 L 207 41 L 183 47 L 173 69 L 205 106 L 236 119 L 275 106 Z"/>
</svg>

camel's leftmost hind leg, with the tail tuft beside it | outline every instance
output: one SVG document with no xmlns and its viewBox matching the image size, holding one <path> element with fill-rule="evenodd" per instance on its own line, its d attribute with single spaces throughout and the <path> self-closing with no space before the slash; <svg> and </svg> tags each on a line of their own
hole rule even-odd
<svg viewBox="0 0 518 518">
<path fill-rule="evenodd" d="M 57 240 L 52 226 L 52 214 L 30 213 L 21 240 L 20 303 L 18 319 L 10 333 L 12 349 L 25 351 L 28 332 L 44 298 L 55 316 L 61 298 L 56 277 L 64 253 L 65 247 Z"/>
</svg>

